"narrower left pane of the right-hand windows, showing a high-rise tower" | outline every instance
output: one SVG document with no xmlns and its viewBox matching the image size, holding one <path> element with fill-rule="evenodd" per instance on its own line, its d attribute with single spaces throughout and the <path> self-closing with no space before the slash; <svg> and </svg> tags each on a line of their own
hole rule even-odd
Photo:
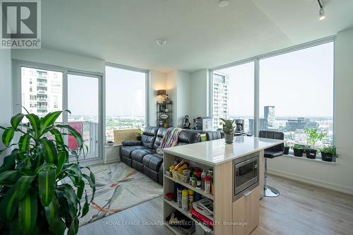
<svg viewBox="0 0 353 235">
<path fill-rule="evenodd" d="M 222 128 L 223 119 L 241 119 L 242 131 L 253 132 L 254 63 L 213 71 L 213 128 Z"/>
</svg>

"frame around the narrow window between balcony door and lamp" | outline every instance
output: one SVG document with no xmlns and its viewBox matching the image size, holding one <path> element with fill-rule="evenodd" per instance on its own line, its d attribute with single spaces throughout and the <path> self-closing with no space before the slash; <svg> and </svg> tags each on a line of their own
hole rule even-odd
<svg viewBox="0 0 353 235">
<path fill-rule="evenodd" d="M 149 90 L 150 90 L 150 70 L 148 69 L 144 69 L 144 68 L 136 68 L 136 67 L 132 67 L 132 66 L 124 66 L 121 64 L 114 64 L 114 63 L 110 63 L 110 62 L 106 62 L 104 64 L 104 73 L 107 69 L 107 67 L 111 67 L 111 68 L 119 68 L 119 69 L 124 69 L 127 71 L 133 71 L 133 72 L 139 72 L 139 73 L 145 73 L 145 126 L 150 126 L 150 95 L 149 95 Z M 105 79 L 104 79 L 104 87 L 105 87 Z M 104 107 L 104 141 L 106 140 L 106 90 L 104 89 L 104 102 L 103 102 L 103 107 Z"/>
</svg>

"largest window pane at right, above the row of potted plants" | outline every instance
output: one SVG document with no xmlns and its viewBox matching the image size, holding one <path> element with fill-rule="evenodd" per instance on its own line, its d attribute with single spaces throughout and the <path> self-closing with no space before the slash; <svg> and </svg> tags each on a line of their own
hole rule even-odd
<svg viewBox="0 0 353 235">
<path fill-rule="evenodd" d="M 306 145 L 305 128 L 333 142 L 333 42 L 260 60 L 259 129 L 279 130 L 290 144 Z"/>
</svg>

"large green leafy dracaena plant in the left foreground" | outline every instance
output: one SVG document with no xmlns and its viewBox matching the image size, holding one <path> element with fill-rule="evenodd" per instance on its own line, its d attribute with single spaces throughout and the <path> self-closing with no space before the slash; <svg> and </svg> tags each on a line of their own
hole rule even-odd
<svg viewBox="0 0 353 235">
<path fill-rule="evenodd" d="M 12 149 L 0 167 L 0 234 L 77 234 L 78 218 L 87 214 L 95 195 L 95 176 L 78 162 L 87 152 L 80 133 L 55 123 L 61 113 L 17 114 L 11 126 L 0 127 L 2 142 Z M 64 135 L 73 135 L 78 149 L 71 150 Z"/>
</svg>

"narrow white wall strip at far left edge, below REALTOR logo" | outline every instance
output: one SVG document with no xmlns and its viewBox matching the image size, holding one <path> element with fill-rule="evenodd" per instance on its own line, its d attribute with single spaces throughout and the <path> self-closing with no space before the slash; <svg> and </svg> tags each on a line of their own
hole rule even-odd
<svg viewBox="0 0 353 235">
<path fill-rule="evenodd" d="M 0 49 L 0 126 L 9 126 L 12 116 L 11 50 Z M 3 131 L 0 130 L 0 138 Z M 0 141 L 0 150 L 4 149 Z M 0 165 L 8 151 L 0 155 Z"/>
</svg>

